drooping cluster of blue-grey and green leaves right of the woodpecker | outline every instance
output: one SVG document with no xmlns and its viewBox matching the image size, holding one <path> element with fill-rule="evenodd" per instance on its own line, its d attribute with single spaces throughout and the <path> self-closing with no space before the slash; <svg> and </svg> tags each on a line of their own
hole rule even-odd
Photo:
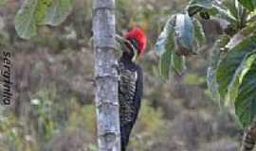
<svg viewBox="0 0 256 151">
<path fill-rule="evenodd" d="M 160 76 L 169 78 L 172 68 L 181 75 L 186 69 L 185 56 L 195 54 L 193 46 L 205 44 L 204 37 L 202 26 L 196 19 L 187 14 L 171 16 L 155 44 L 156 54 L 160 56 Z"/>
</svg>

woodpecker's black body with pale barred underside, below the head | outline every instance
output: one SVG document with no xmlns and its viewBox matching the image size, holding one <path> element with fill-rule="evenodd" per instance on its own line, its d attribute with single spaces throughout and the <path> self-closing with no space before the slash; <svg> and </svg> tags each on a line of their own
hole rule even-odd
<svg viewBox="0 0 256 151">
<path fill-rule="evenodd" d="M 119 120 L 121 151 L 129 142 L 133 126 L 137 120 L 143 93 L 143 74 L 141 68 L 132 61 L 133 54 L 127 52 L 119 59 Z"/>
</svg>

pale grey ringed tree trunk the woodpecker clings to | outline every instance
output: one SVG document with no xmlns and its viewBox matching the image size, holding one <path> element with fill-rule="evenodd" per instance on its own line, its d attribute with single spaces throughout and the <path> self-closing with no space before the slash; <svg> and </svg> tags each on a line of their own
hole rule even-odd
<svg viewBox="0 0 256 151">
<path fill-rule="evenodd" d="M 94 0 L 93 14 L 99 151 L 119 151 L 115 0 Z"/>
</svg>

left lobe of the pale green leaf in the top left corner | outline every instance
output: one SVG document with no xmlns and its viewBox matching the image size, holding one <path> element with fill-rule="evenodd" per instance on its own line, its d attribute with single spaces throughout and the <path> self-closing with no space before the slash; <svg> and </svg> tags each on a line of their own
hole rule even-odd
<svg viewBox="0 0 256 151">
<path fill-rule="evenodd" d="M 38 25 L 46 18 L 46 8 L 51 0 L 26 0 L 15 17 L 15 29 L 23 39 L 30 39 L 37 34 Z"/>
</svg>

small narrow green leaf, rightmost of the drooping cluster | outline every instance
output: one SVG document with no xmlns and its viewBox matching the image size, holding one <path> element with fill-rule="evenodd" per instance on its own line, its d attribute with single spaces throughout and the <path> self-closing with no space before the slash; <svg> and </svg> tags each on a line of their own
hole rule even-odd
<svg viewBox="0 0 256 151">
<path fill-rule="evenodd" d="M 193 25 L 194 25 L 194 37 L 196 42 L 202 46 L 204 44 L 206 44 L 206 35 L 203 29 L 203 26 L 201 25 L 201 23 L 194 19 L 193 20 Z"/>
</svg>

